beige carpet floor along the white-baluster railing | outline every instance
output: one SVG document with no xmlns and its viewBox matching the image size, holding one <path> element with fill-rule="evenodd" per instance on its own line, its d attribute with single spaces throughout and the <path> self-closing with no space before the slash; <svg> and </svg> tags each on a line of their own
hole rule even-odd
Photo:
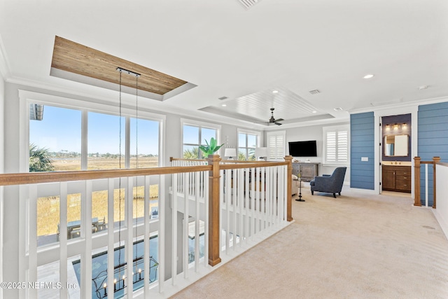
<svg viewBox="0 0 448 299">
<path fill-rule="evenodd" d="M 448 240 L 408 195 L 293 200 L 295 223 L 172 298 L 448 298 Z"/>
</svg>

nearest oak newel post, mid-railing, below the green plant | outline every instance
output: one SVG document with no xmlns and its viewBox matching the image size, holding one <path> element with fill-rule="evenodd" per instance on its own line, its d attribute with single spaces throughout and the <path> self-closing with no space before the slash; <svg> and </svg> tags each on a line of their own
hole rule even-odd
<svg viewBox="0 0 448 299">
<path fill-rule="evenodd" d="M 211 165 L 209 171 L 209 265 L 221 263 L 219 257 L 219 155 L 209 155 L 207 162 Z"/>
</svg>

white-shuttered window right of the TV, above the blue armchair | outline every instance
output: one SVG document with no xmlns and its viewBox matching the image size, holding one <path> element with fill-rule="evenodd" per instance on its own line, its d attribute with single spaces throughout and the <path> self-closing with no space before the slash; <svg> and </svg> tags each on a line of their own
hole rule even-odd
<svg viewBox="0 0 448 299">
<path fill-rule="evenodd" d="M 349 125 L 323 127 L 323 164 L 349 163 Z"/>
</svg>

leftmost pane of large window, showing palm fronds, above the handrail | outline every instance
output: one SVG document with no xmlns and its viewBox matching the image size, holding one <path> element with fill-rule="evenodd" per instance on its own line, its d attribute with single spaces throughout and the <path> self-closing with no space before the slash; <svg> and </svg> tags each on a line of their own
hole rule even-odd
<svg viewBox="0 0 448 299">
<path fill-rule="evenodd" d="M 29 105 L 30 172 L 80 170 L 81 111 Z"/>
</svg>

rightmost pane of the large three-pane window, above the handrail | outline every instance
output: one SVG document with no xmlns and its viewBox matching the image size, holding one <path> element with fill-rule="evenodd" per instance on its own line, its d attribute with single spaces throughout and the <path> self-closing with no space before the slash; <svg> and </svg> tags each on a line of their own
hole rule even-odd
<svg viewBox="0 0 448 299">
<path fill-rule="evenodd" d="M 130 168 L 158 167 L 159 122 L 131 118 L 130 130 Z"/>
</svg>

